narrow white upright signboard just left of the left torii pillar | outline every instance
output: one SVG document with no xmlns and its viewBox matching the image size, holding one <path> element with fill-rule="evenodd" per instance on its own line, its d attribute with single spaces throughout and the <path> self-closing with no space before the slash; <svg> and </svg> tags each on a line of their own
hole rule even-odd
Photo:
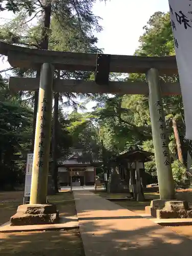
<svg viewBox="0 0 192 256">
<path fill-rule="evenodd" d="M 32 177 L 32 165 L 33 165 L 33 153 L 27 154 L 26 176 L 25 176 L 25 191 L 24 191 L 24 203 L 25 197 L 30 197 L 31 192 L 31 177 Z"/>
</svg>

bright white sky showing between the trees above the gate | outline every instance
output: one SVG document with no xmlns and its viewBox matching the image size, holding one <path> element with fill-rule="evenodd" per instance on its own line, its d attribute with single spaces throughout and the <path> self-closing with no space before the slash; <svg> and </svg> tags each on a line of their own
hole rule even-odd
<svg viewBox="0 0 192 256">
<path fill-rule="evenodd" d="M 102 18 L 103 31 L 97 33 L 98 48 L 106 54 L 133 55 L 139 46 L 143 27 L 157 11 L 167 12 L 168 0 L 108 0 L 106 4 L 97 0 L 93 13 Z M 10 12 L 0 12 L 1 18 L 11 18 Z M 0 59 L 0 70 L 9 67 Z M 90 102 L 90 109 L 94 102 Z"/>
</svg>

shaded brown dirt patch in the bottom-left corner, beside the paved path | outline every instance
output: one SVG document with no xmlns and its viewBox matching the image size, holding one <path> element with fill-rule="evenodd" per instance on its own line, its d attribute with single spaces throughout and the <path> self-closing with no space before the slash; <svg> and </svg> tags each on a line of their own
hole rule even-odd
<svg viewBox="0 0 192 256">
<path fill-rule="evenodd" d="M 0 233 L 2 256 L 84 256 L 78 230 Z"/>
</svg>

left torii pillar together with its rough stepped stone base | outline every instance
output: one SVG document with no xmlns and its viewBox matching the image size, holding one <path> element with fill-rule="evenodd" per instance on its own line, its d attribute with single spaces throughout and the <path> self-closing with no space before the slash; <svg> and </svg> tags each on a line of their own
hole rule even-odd
<svg viewBox="0 0 192 256">
<path fill-rule="evenodd" d="M 54 224 L 59 219 L 56 206 L 47 204 L 53 75 L 53 66 L 44 63 L 40 72 L 30 204 L 18 206 L 11 217 L 12 226 Z"/>
</svg>

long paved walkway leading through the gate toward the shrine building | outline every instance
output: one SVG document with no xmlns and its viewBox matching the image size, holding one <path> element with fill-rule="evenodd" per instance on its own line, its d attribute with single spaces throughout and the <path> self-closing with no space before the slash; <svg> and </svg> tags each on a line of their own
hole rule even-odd
<svg viewBox="0 0 192 256">
<path fill-rule="evenodd" d="M 86 256 L 182 256 L 192 251 L 186 237 L 90 191 L 74 191 L 74 198 Z"/>
</svg>

